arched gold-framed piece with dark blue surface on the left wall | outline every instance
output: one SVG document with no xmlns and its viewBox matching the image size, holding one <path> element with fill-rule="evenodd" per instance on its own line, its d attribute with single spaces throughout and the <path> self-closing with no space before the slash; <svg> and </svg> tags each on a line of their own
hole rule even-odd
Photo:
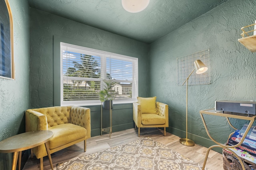
<svg viewBox="0 0 256 170">
<path fill-rule="evenodd" d="M 14 79 L 13 20 L 8 0 L 0 0 L 0 78 Z"/>
</svg>

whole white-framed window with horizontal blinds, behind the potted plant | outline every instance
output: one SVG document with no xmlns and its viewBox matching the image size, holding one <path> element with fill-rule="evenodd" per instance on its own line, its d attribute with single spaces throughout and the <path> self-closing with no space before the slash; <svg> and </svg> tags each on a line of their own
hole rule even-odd
<svg viewBox="0 0 256 170">
<path fill-rule="evenodd" d="M 104 79 L 113 79 L 115 103 L 136 100 L 138 59 L 76 45 L 60 43 L 61 105 L 100 104 L 98 91 Z"/>
</svg>

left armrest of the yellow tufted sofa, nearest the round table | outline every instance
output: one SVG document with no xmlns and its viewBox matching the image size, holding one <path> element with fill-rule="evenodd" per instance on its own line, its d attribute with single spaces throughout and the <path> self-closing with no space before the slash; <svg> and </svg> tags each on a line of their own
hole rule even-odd
<svg viewBox="0 0 256 170">
<path fill-rule="evenodd" d="M 46 115 L 28 109 L 25 112 L 26 132 L 48 130 Z"/>
</svg>

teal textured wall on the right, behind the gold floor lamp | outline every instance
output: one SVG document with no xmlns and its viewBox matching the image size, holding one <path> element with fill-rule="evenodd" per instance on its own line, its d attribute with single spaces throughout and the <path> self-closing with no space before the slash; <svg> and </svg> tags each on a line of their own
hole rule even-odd
<svg viewBox="0 0 256 170">
<path fill-rule="evenodd" d="M 210 49 L 211 84 L 188 86 L 188 133 L 209 145 L 199 111 L 215 100 L 256 101 L 256 53 L 238 42 L 241 27 L 256 20 L 256 1 L 229 0 L 150 45 L 150 94 L 169 105 L 167 131 L 186 137 L 186 86 L 177 86 L 176 59 Z M 191 70 L 192 71 L 192 70 Z M 195 73 L 194 73 L 195 74 Z M 224 118 L 206 117 L 212 136 L 225 142 Z M 238 128 L 244 121 L 232 120 Z"/>
</svg>

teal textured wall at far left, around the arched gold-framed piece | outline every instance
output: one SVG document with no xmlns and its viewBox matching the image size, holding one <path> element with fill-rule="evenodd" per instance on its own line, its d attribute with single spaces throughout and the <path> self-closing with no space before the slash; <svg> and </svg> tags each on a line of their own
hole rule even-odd
<svg viewBox="0 0 256 170">
<path fill-rule="evenodd" d="M 14 27 L 15 80 L 0 78 L 0 141 L 25 131 L 25 110 L 30 108 L 29 6 L 9 0 Z M 12 154 L 0 154 L 0 169 L 9 170 Z"/>
</svg>

